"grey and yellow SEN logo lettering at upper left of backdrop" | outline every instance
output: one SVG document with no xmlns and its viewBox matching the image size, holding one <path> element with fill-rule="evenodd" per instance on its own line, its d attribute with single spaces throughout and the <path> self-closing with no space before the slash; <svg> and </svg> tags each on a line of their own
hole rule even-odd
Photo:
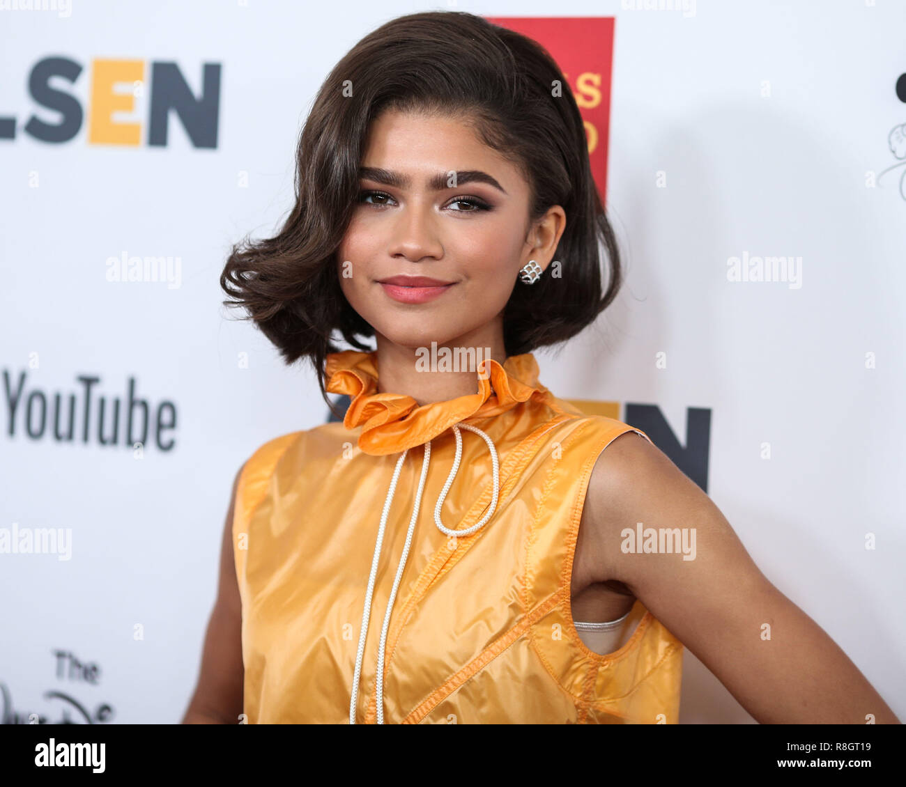
<svg viewBox="0 0 906 787">
<path fill-rule="evenodd" d="M 148 76 L 146 76 L 146 72 Z M 82 130 L 85 112 L 72 92 L 52 86 L 53 80 L 74 85 L 82 65 L 67 57 L 45 57 L 34 64 L 28 76 L 28 93 L 58 120 L 42 120 L 33 114 L 21 130 L 42 142 L 61 143 Z M 147 80 L 147 84 L 146 84 Z M 122 86 L 127 86 L 123 92 Z M 138 147 L 145 130 L 140 122 L 114 120 L 115 112 L 147 111 L 144 144 L 166 147 L 170 110 L 196 148 L 217 148 L 217 116 L 220 109 L 220 63 L 205 63 L 197 96 L 175 62 L 143 60 L 92 60 L 88 104 L 88 142 L 91 145 Z M 47 113 L 43 113 L 47 117 Z M 16 118 L 0 117 L 0 139 L 15 139 Z"/>
</svg>

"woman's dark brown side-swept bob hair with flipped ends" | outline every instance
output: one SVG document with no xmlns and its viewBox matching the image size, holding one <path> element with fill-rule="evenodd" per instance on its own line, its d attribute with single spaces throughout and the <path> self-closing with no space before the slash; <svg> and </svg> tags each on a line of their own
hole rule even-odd
<svg viewBox="0 0 906 787">
<path fill-rule="evenodd" d="M 507 357 L 570 339 L 605 309 L 622 272 L 594 185 L 583 119 L 564 74 L 525 35 L 458 11 L 409 14 L 352 47 L 323 82 L 299 138 L 295 205 L 274 237 L 232 247 L 220 286 L 243 306 L 286 364 L 307 358 L 321 393 L 339 331 L 352 347 L 374 329 L 346 300 L 335 265 L 360 191 L 371 121 L 384 110 L 463 119 L 523 173 L 526 227 L 554 205 L 566 226 L 554 254 L 560 278 L 514 282 L 504 311 Z M 610 267 L 602 293 L 602 250 Z M 546 274 L 547 272 L 545 272 Z"/>
</svg>

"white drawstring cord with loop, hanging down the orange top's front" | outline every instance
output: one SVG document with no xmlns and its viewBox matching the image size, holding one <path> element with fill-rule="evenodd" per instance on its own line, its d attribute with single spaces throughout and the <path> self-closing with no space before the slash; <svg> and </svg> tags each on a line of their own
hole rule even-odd
<svg viewBox="0 0 906 787">
<path fill-rule="evenodd" d="M 462 457 L 462 437 L 459 434 L 459 427 L 468 429 L 470 432 L 475 432 L 477 435 L 480 435 L 484 438 L 487 443 L 487 447 L 491 452 L 491 463 L 494 468 L 494 496 L 491 500 L 491 506 L 488 512 L 485 514 L 482 519 L 472 525 L 467 530 L 448 530 L 444 527 L 443 523 L 440 522 L 440 507 L 443 505 L 444 500 L 447 498 L 447 493 L 450 486 L 453 484 L 453 479 L 456 477 L 456 474 L 459 469 L 459 460 Z M 434 522 L 437 524 L 438 529 L 441 533 L 452 536 L 460 535 L 470 535 L 475 533 L 479 528 L 481 528 L 487 520 L 493 516 L 497 504 L 497 496 L 500 493 L 500 463 L 497 458 L 496 448 L 494 446 L 494 441 L 487 437 L 487 435 L 478 429 L 477 427 L 470 427 L 468 424 L 459 424 L 454 425 L 453 434 L 456 437 L 456 458 L 453 461 L 453 467 L 450 470 L 450 475 L 448 475 L 447 483 L 444 485 L 444 491 L 440 494 L 438 498 L 437 507 L 434 509 Z M 365 654 L 365 636 L 368 633 L 368 622 L 371 619 L 371 595 L 374 591 L 374 580 L 378 573 L 378 560 L 381 557 L 381 543 L 384 540 L 384 530 L 387 527 L 387 517 L 390 513 L 390 504 L 393 501 L 393 494 L 396 492 L 397 481 L 400 478 L 400 470 L 402 469 L 402 463 L 406 459 L 406 455 L 409 453 L 407 448 L 400 455 L 399 460 L 397 461 L 396 468 L 393 471 L 393 478 L 390 481 L 390 488 L 387 490 L 387 499 L 384 501 L 384 510 L 381 513 L 381 526 L 378 528 L 378 540 L 374 544 L 374 556 L 371 559 L 371 575 L 368 578 L 368 590 L 365 593 L 365 609 L 361 613 L 361 633 L 359 635 L 359 649 L 355 657 L 355 674 L 352 677 L 352 698 L 350 699 L 349 704 L 349 723 L 351 725 L 355 724 L 355 711 L 356 711 L 356 702 L 359 697 L 359 679 L 361 677 L 361 662 Z M 421 463 L 421 478 L 419 480 L 419 490 L 416 493 L 415 505 L 412 509 L 412 518 L 409 523 L 409 532 L 406 534 L 406 543 L 403 546 L 402 555 L 400 555 L 400 565 L 397 567 L 396 580 L 393 582 L 393 589 L 390 590 L 390 599 L 387 601 L 387 612 L 384 615 L 384 625 L 381 629 L 381 643 L 378 646 L 378 672 L 377 672 L 377 681 L 375 685 L 375 703 L 377 706 L 378 713 L 378 724 L 382 725 L 384 723 L 384 648 L 387 644 L 387 632 L 390 629 L 390 612 L 393 609 L 393 602 L 396 600 L 397 590 L 400 587 L 400 580 L 402 579 L 402 573 L 406 568 L 406 559 L 409 557 L 409 549 L 412 543 L 412 534 L 415 532 L 415 523 L 419 518 L 419 506 L 421 504 L 421 497 L 425 489 L 425 479 L 428 477 L 428 463 L 431 456 L 431 441 L 429 440 L 425 443 L 425 457 Z"/>
</svg>

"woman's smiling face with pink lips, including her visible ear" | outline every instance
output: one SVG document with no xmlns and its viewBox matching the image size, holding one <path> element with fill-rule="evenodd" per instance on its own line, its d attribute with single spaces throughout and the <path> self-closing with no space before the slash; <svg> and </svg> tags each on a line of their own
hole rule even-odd
<svg viewBox="0 0 906 787">
<path fill-rule="evenodd" d="M 381 339 L 503 351 L 519 269 L 550 263 L 565 216 L 528 226 L 529 185 L 459 120 L 384 112 L 361 161 L 360 196 L 337 250 L 342 292 Z M 382 283 L 422 276 L 446 286 Z M 418 284 L 408 282 L 407 284 Z"/>
</svg>

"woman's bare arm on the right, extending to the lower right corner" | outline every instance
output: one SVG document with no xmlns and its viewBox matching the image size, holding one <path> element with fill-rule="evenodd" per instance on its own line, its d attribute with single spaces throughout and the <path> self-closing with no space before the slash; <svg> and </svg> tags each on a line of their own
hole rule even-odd
<svg viewBox="0 0 906 787">
<path fill-rule="evenodd" d="M 685 529 L 687 547 L 694 529 L 694 559 L 622 552 L 622 531 L 637 523 Z M 627 432 L 602 451 L 581 526 L 594 581 L 627 585 L 761 724 L 865 724 L 869 715 L 900 724 L 824 629 L 767 581 L 717 505 L 644 437 Z"/>
</svg>

